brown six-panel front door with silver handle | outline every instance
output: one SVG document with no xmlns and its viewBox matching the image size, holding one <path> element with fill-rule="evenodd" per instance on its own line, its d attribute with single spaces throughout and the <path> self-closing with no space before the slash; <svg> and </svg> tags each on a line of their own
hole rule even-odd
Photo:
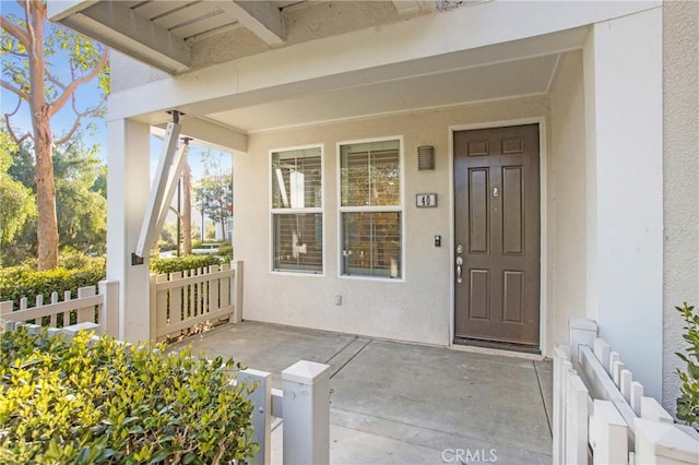
<svg viewBox="0 0 699 465">
<path fill-rule="evenodd" d="M 538 348 L 538 124 L 454 132 L 454 343 Z"/>
</svg>

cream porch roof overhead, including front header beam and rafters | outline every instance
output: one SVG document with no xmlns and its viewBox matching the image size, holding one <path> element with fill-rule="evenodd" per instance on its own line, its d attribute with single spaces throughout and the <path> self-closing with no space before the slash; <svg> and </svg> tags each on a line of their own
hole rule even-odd
<svg viewBox="0 0 699 465">
<path fill-rule="evenodd" d="M 606 14 L 591 7 L 592 20 L 580 19 L 567 3 L 552 3 L 546 11 L 553 8 L 549 14 L 564 25 L 556 28 L 525 14 L 534 8 L 529 3 L 486 0 L 73 3 L 54 17 L 87 25 L 84 33 L 133 58 L 185 71 L 112 95 L 111 118 L 158 127 L 169 120 L 165 110 L 177 108 L 186 114 L 185 130 L 192 128 L 188 135 L 238 150 L 248 132 L 546 94 L 560 55 L 580 48 L 585 25 Z M 274 46 L 284 32 L 275 33 L 263 11 L 252 11 L 258 3 L 282 12 L 286 43 Z M 112 11 L 118 14 L 107 14 Z M 251 17 L 241 20 L 246 14 Z M 494 19 L 517 31 L 498 29 L 499 41 L 494 40 L 481 28 Z M 253 33 L 268 48 L 222 57 L 227 52 L 222 45 L 245 48 L 235 39 L 241 32 Z M 222 36 L 225 40 L 214 44 Z M 191 64 L 193 56 L 210 64 Z"/>
</svg>

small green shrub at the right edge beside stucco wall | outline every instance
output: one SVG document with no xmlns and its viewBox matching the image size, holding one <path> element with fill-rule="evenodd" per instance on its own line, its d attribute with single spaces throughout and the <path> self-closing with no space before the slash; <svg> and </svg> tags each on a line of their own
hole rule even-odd
<svg viewBox="0 0 699 465">
<path fill-rule="evenodd" d="M 677 418 L 687 425 L 699 427 L 699 312 L 687 302 L 675 309 L 685 320 L 685 333 L 682 337 L 689 344 L 685 348 L 686 354 L 676 353 L 677 357 L 687 363 L 687 371 L 677 369 L 682 382 L 680 396 L 677 398 Z"/>
</svg>

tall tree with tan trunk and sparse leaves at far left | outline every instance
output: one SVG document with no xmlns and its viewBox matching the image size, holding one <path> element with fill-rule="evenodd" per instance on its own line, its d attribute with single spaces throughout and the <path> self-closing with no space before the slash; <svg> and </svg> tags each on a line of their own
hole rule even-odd
<svg viewBox="0 0 699 465">
<path fill-rule="evenodd" d="M 17 0 L 17 3 L 24 17 L 0 15 L 0 85 L 16 97 L 16 105 L 10 106 L 13 110 L 4 114 L 10 135 L 17 144 L 31 140 L 35 151 L 38 267 L 49 270 L 58 265 L 59 245 L 54 147 L 69 142 L 83 120 L 103 115 L 109 92 L 109 67 L 105 47 L 48 23 L 45 1 Z M 68 73 L 61 73 L 54 60 L 67 61 Z M 103 97 L 96 105 L 81 107 L 76 90 L 95 79 Z M 28 105 L 32 128 L 20 131 L 11 118 L 23 103 Z M 55 139 L 51 119 L 63 108 L 72 109 L 73 124 Z"/>
</svg>

